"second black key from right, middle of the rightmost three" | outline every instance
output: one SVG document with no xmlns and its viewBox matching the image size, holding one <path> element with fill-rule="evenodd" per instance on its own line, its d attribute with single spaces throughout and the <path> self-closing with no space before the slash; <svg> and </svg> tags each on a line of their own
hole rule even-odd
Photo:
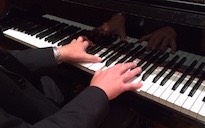
<svg viewBox="0 0 205 128">
<path fill-rule="evenodd" d="M 194 72 L 194 74 L 191 76 L 191 78 L 185 83 L 185 85 L 182 87 L 182 89 L 180 90 L 180 93 L 184 93 L 187 88 L 190 86 L 190 84 L 192 83 L 192 81 L 194 80 L 195 77 L 198 77 L 199 73 L 202 71 L 202 69 L 204 68 L 205 63 L 202 63 L 197 70 Z"/>
</svg>

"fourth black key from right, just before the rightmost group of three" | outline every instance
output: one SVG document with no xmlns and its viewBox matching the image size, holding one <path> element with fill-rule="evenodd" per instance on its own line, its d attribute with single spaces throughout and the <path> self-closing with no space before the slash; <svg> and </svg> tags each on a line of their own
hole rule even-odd
<svg viewBox="0 0 205 128">
<path fill-rule="evenodd" d="M 177 69 L 179 69 L 179 68 L 183 65 L 183 63 L 184 63 L 186 60 L 187 60 L 186 57 L 183 57 L 183 58 L 179 61 L 179 63 L 177 63 L 177 64 L 174 66 L 174 68 L 169 72 L 169 74 L 167 74 L 167 75 L 165 76 L 165 78 L 161 81 L 160 85 L 163 86 L 163 85 L 169 80 L 169 78 L 175 73 L 175 71 L 176 71 Z"/>
</svg>

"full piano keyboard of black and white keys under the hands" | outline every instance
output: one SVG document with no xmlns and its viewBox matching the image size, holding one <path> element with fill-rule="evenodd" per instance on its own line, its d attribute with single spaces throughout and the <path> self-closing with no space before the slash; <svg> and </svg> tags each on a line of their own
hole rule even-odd
<svg viewBox="0 0 205 128">
<path fill-rule="evenodd" d="M 2 24 L 6 37 L 32 48 L 59 47 L 71 39 L 88 36 L 96 43 L 88 48 L 90 54 L 102 57 L 101 63 L 81 63 L 78 67 L 90 73 L 112 67 L 117 63 L 134 61 L 143 71 L 131 82 L 142 80 L 143 87 L 135 92 L 157 103 L 179 111 L 205 123 L 205 58 L 184 51 L 175 54 L 146 51 L 147 42 L 128 37 L 127 42 L 117 38 L 98 39 L 94 27 L 44 15 L 40 21 L 20 20 Z M 15 20 L 17 21 L 17 20 Z M 93 37 L 92 37 L 93 36 Z M 108 43 L 107 43 L 108 42 Z"/>
</svg>

